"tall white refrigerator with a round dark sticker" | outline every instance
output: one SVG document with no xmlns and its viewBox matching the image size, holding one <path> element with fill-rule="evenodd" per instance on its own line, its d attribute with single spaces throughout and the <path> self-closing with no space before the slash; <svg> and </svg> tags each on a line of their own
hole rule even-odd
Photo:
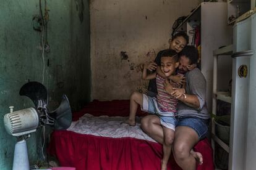
<svg viewBox="0 0 256 170">
<path fill-rule="evenodd" d="M 256 169 L 256 14 L 233 27 L 229 169 Z"/>
</svg>

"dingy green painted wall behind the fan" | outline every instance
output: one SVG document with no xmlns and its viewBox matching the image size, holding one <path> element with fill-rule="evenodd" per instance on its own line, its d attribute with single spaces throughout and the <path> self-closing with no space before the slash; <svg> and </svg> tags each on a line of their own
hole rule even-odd
<svg viewBox="0 0 256 170">
<path fill-rule="evenodd" d="M 15 137 L 6 133 L 3 116 L 31 107 L 27 97 L 19 96 L 20 87 L 42 81 L 41 33 L 33 30 L 32 18 L 40 14 L 39 0 L 0 0 L 0 169 L 11 169 Z M 45 0 L 41 1 L 45 12 Z M 49 14 L 45 53 L 44 84 L 49 107 L 59 105 L 67 94 L 72 110 L 90 101 L 90 21 L 88 0 L 46 0 Z M 49 62 L 48 62 L 49 60 Z M 28 139 L 30 164 L 38 160 L 36 147 L 40 132 Z M 37 144 L 36 144 L 37 143 Z"/>
</svg>

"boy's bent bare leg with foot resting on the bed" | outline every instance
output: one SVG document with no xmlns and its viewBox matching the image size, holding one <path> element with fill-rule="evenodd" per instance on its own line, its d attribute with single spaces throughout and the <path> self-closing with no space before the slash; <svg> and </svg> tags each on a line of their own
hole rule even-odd
<svg viewBox="0 0 256 170">
<path fill-rule="evenodd" d="M 139 92 L 133 92 L 132 95 L 130 95 L 130 114 L 129 118 L 124 121 L 124 123 L 129 124 L 130 126 L 135 126 L 135 116 L 137 112 L 137 108 L 139 105 L 142 105 L 143 103 L 143 94 Z"/>
</svg>

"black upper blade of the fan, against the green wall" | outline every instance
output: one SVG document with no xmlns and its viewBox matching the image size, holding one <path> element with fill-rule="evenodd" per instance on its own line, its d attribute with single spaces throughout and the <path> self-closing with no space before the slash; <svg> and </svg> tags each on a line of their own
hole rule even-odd
<svg viewBox="0 0 256 170">
<path fill-rule="evenodd" d="M 36 81 L 31 81 L 24 84 L 20 88 L 20 95 L 25 95 L 30 98 L 35 107 L 46 107 L 48 104 L 48 94 L 46 87 Z"/>
</svg>

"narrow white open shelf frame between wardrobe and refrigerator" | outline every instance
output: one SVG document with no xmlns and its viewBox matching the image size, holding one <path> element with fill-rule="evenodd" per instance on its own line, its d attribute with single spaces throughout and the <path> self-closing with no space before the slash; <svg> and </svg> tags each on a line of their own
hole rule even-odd
<svg viewBox="0 0 256 170">
<path fill-rule="evenodd" d="M 233 45 L 222 47 L 213 51 L 213 104 L 212 113 L 216 115 L 217 113 L 217 99 L 232 103 L 232 97 L 230 92 L 218 91 L 218 57 L 230 57 L 233 53 Z M 211 119 L 211 145 L 213 147 L 213 154 L 215 154 L 215 142 L 220 145 L 226 152 L 229 153 L 229 145 L 224 143 L 215 133 L 215 121 L 214 118 Z M 215 158 L 215 156 L 214 156 Z"/>
</svg>

